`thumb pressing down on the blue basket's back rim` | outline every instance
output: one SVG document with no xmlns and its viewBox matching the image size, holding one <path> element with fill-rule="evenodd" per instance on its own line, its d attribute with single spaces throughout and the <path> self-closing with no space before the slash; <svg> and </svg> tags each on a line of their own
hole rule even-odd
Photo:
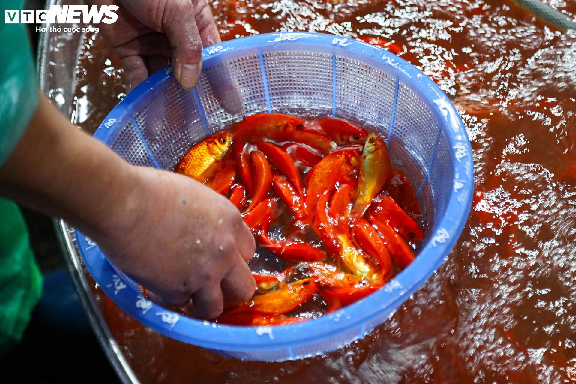
<svg viewBox="0 0 576 384">
<path fill-rule="evenodd" d="M 187 90 L 196 86 L 202 70 L 202 39 L 196 26 L 194 5 L 190 0 L 166 2 L 162 29 L 174 48 L 174 76 Z"/>
</svg>

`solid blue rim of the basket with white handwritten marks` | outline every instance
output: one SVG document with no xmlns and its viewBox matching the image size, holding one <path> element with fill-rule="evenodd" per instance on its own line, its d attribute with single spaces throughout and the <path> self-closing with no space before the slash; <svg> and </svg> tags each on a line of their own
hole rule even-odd
<svg viewBox="0 0 576 384">
<path fill-rule="evenodd" d="M 416 260 L 396 275 L 386 286 L 373 294 L 331 314 L 315 320 L 285 326 L 230 326 L 180 316 L 147 301 L 128 277 L 119 275 L 97 245 L 77 231 L 77 244 L 82 258 L 94 280 L 104 292 L 126 313 L 142 324 L 172 339 L 219 351 L 275 351 L 288 349 L 292 358 L 305 356 L 294 353 L 294 348 L 331 339 L 339 333 L 361 329 L 358 337 L 370 332 L 366 324 L 389 310 L 396 302 L 404 302 L 420 288 L 425 280 L 444 263 L 464 229 L 472 205 L 473 159 L 472 148 L 463 121 L 444 92 L 425 74 L 406 60 L 371 44 L 327 33 L 281 32 L 253 35 L 225 41 L 203 50 L 204 63 L 223 52 L 261 44 L 275 44 L 289 49 L 290 44 L 331 45 L 339 51 L 354 51 L 367 58 L 376 59 L 403 75 L 402 81 L 418 88 L 425 98 L 433 102 L 433 109 L 441 130 L 451 148 L 454 164 L 454 180 L 446 212 L 435 227 L 430 240 L 419 252 Z M 128 93 L 109 113 L 98 127 L 94 137 L 108 142 L 112 127 L 123 120 L 126 111 L 159 83 L 173 77 L 166 67 L 146 79 Z M 193 91 L 194 92 L 194 91 Z M 327 351 L 317 351 L 327 352 Z M 306 356 L 313 355 L 309 353 Z"/>
</svg>

